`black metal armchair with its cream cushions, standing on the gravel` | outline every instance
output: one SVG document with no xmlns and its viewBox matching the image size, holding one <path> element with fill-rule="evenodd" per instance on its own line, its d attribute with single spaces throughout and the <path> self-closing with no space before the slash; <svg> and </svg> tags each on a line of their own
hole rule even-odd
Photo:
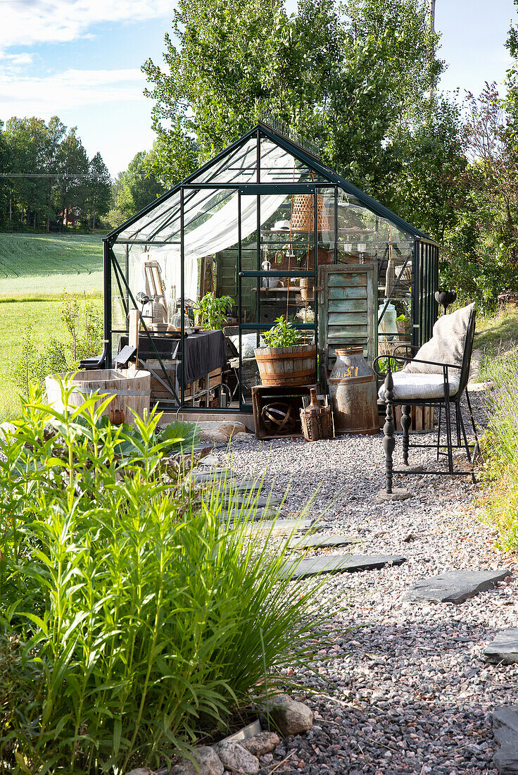
<svg viewBox="0 0 518 775">
<path fill-rule="evenodd" d="M 469 367 L 472 359 L 473 338 L 475 336 L 475 305 L 443 315 L 434 325 L 433 336 L 418 349 L 410 345 L 402 345 L 394 351 L 393 356 L 378 356 L 374 362 L 376 373 L 384 377 L 379 388 L 379 398 L 386 404 L 386 421 L 383 426 L 383 447 L 386 458 L 386 493 L 393 492 L 393 474 L 451 474 L 465 475 L 471 473 L 473 480 L 473 462 L 479 449 L 479 439 L 475 427 L 471 401 L 468 394 Z M 405 349 L 404 355 L 398 350 Z M 414 351 L 415 356 L 411 357 Z M 396 364 L 403 364 L 403 369 L 393 371 Z M 386 366 L 382 369 L 382 364 Z M 382 370 L 381 370 L 382 369 Z M 468 412 L 475 434 L 475 444 L 468 443 L 464 419 L 461 412 L 461 398 L 465 394 Z M 451 432 L 451 405 L 455 405 L 455 425 L 457 431 L 456 443 L 453 443 Z M 401 426 L 403 428 L 403 464 L 408 465 L 408 450 L 410 447 L 431 447 L 437 449 L 439 455 L 448 457 L 448 470 L 393 470 L 393 451 L 396 446 L 394 439 L 393 407 L 401 406 Z M 433 406 L 439 408 L 439 424 L 436 444 L 410 444 L 410 407 Z M 441 415 L 444 408 L 446 444 L 441 444 Z M 462 437 L 462 438 L 461 438 Z M 455 471 L 453 467 L 453 449 L 465 447 L 471 470 Z M 470 447 L 472 446 L 472 449 Z M 446 449 L 446 452 L 441 450 Z"/>
</svg>

